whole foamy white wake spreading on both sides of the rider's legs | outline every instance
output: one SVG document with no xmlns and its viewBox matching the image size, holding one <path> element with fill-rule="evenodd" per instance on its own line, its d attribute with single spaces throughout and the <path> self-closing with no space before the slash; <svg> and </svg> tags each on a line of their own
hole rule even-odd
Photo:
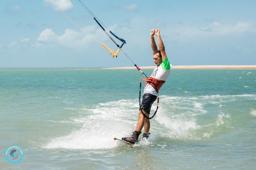
<svg viewBox="0 0 256 170">
<path fill-rule="evenodd" d="M 206 105 L 218 103 L 216 107 L 223 107 L 226 106 L 223 104 L 225 102 L 240 99 L 255 100 L 256 95 L 160 96 L 158 113 L 150 121 L 151 137 L 149 141 L 144 141 L 141 144 L 152 144 L 160 137 L 167 137 L 169 140 L 208 139 L 218 133 L 220 128 L 232 128 L 232 119 L 229 113 L 220 112 L 214 116 L 213 121 L 208 121 L 208 124 L 202 122 L 200 124 L 198 116 L 208 113 Z M 122 138 L 134 131 L 137 124 L 138 108 L 137 99 L 99 103 L 94 107 L 68 107 L 66 110 L 79 113 L 78 117 L 70 118 L 68 122 L 80 124 L 80 129 L 62 137 L 49 139 L 50 142 L 43 147 L 90 150 L 110 149 L 123 145 L 114 141 L 113 138 Z M 153 104 L 151 113 L 155 109 L 156 103 Z M 255 109 L 252 109 L 250 114 L 256 116 Z"/>
</svg>

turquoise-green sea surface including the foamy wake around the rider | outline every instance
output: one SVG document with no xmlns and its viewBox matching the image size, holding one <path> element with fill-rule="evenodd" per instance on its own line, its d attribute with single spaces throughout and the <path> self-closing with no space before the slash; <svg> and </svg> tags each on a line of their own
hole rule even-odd
<svg viewBox="0 0 256 170">
<path fill-rule="evenodd" d="M 113 138 L 135 129 L 139 81 L 137 70 L 0 69 L 0 169 L 256 168 L 256 70 L 171 70 L 149 140 L 127 146 Z"/>
</svg>

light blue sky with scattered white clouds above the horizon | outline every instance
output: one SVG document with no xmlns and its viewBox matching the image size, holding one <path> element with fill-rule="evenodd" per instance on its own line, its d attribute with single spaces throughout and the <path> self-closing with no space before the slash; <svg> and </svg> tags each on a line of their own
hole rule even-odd
<svg viewBox="0 0 256 170">
<path fill-rule="evenodd" d="M 78 1 L 49 2 L 0 0 L 1 68 L 133 66 L 100 45 L 117 50 Z M 157 28 L 172 65 L 256 64 L 255 0 L 83 2 L 126 40 L 122 49 L 138 66 L 155 65 L 150 30 Z"/>
</svg>

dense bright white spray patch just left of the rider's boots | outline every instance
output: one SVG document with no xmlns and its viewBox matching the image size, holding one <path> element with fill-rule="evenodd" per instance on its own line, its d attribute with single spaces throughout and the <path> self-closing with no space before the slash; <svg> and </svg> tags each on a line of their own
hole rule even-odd
<svg viewBox="0 0 256 170">
<path fill-rule="evenodd" d="M 129 123 L 118 121 L 92 121 L 80 130 L 74 131 L 67 136 L 53 139 L 44 146 L 46 149 L 109 149 L 117 146 L 113 142 L 114 137 L 124 137 L 125 131 L 120 129 L 133 130 Z"/>
</svg>

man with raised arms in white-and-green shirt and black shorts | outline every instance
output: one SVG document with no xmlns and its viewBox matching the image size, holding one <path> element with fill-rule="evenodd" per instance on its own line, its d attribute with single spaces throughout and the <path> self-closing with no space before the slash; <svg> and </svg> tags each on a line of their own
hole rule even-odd
<svg viewBox="0 0 256 170">
<path fill-rule="evenodd" d="M 155 34 L 157 36 L 159 49 L 157 49 L 157 46 L 156 46 L 156 42 L 154 38 Z M 148 77 L 146 80 L 147 82 L 144 87 L 143 98 L 140 105 L 139 119 L 137 122 L 136 129 L 130 137 L 122 138 L 122 140 L 129 142 L 131 144 L 135 144 L 138 142 L 138 138 L 140 136 L 141 129 L 143 128 L 143 126 L 144 126 L 143 138 L 148 139 L 150 135 L 149 133 L 150 122 L 149 122 L 149 119 L 146 118 L 144 115 L 149 117 L 151 106 L 158 96 L 158 90 L 164 84 L 165 80 L 168 78 L 170 74 L 170 69 L 171 69 L 170 62 L 165 53 L 164 43 L 160 36 L 160 30 L 152 29 L 150 33 L 150 37 L 151 37 L 151 48 L 154 54 L 153 60 L 154 60 L 154 63 L 156 64 L 156 68 L 154 69 L 151 76 Z M 142 114 L 142 112 L 144 113 L 144 115 Z"/>
</svg>

